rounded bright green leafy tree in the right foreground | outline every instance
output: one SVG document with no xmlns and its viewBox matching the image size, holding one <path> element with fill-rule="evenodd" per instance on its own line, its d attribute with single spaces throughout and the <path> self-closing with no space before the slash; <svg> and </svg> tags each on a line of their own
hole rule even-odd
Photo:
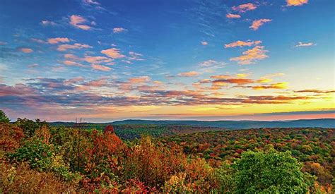
<svg viewBox="0 0 335 194">
<path fill-rule="evenodd" d="M 233 164 L 236 193 L 307 193 L 310 180 L 290 152 L 252 152 L 242 154 Z M 312 176 L 310 176 L 312 177 Z"/>
</svg>

